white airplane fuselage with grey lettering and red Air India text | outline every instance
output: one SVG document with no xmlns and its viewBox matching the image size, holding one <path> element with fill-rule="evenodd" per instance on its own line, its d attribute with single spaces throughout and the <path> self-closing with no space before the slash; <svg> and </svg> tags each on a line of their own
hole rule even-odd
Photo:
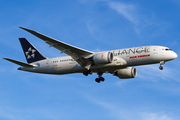
<svg viewBox="0 0 180 120">
<path fill-rule="evenodd" d="M 114 55 L 113 61 L 108 64 L 93 65 L 91 67 L 93 72 L 101 70 L 111 73 L 117 69 L 129 66 L 155 64 L 161 61 L 166 62 L 177 57 L 175 52 L 163 46 L 134 47 L 111 50 L 109 52 L 112 52 Z M 71 56 L 45 59 L 31 64 L 37 67 L 20 67 L 19 70 L 44 74 L 82 73 L 85 70 L 85 68 L 81 67 Z"/>
</svg>

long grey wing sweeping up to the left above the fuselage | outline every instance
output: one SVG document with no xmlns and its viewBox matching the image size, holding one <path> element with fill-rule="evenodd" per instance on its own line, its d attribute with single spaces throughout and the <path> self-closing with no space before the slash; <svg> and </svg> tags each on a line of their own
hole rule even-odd
<svg viewBox="0 0 180 120">
<path fill-rule="evenodd" d="M 75 61 L 77 61 L 82 67 L 88 66 L 89 61 L 86 59 L 89 56 L 93 55 L 93 52 L 83 50 L 72 45 L 66 44 L 64 42 L 58 41 L 56 39 L 45 36 L 41 33 L 38 33 L 34 30 L 30 30 L 27 28 L 20 27 L 21 29 L 35 35 L 36 37 L 44 40 L 50 46 L 60 50 L 63 53 L 71 56 Z"/>
</svg>

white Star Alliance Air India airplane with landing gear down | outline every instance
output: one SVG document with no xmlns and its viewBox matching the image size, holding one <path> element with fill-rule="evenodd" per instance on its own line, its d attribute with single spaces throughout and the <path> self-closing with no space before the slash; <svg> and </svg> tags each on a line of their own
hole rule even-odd
<svg viewBox="0 0 180 120">
<path fill-rule="evenodd" d="M 164 46 L 142 46 L 91 52 L 64 42 L 58 41 L 34 30 L 19 27 L 36 37 L 44 40 L 68 56 L 47 58 L 42 55 L 26 38 L 19 38 L 27 63 L 3 58 L 21 67 L 18 70 L 43 74 L 72 74 L 83 73 L 85 76 L 97 73 L 97 83 L 103 82 L 103 73 L 111 73 L 120 79 L 135 78 L 137 70 L 134 66 L 160 63 L 163 70 L 165 62 L 177 58 L 177 54 Z"/>
</svg>

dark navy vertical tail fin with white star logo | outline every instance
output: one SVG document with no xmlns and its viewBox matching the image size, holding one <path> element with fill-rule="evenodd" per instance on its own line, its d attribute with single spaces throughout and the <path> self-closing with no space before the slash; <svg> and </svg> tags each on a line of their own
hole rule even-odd
<svg viewBox="0 0 180 120">
<path fill-rule="evenodd" d="M 25 38 L 19 38 L 19 41 L 28 63 L 46 59 L 46 57 L 44 57 L 28 40 Z"/>
</svg>

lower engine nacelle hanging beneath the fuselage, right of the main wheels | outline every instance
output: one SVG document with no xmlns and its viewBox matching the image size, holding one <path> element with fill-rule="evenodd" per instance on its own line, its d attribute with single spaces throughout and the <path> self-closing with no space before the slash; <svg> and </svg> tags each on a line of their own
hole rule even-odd
<svg viewBox="0 0 180 120">
<path fill-rule="evenodd" d="M 115 72 L 114 75 L 118 76 L 121 79 L 135 78 L 137 75 L 137 70 L 134 67 L 127 67 L 124 69 L 119 69 Z"/>
</svg>

